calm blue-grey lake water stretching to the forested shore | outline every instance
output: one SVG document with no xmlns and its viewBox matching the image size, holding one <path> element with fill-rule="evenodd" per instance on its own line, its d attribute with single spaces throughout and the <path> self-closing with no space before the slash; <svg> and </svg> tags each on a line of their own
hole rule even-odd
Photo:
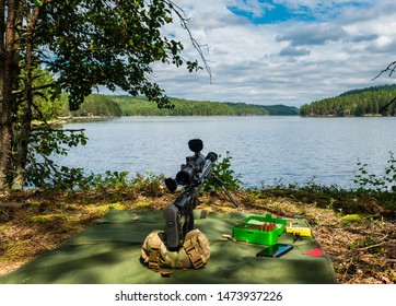
<svg viewBox="0 0 396 306">
<path fill-rule="evenodd" d="M 396 154 L 396 118 L 301 117 L 124 117 L 65 125 L 85 129 L 85 146 L 61 163 L 84 168 L 164 174 L 174 177 L 188 141 L 203 141 L 202 154 L 232 156 L 232 169 L 245 187 L 305 184 L 353 187 L 360 160 L 381 175 Z"/>
</svg>

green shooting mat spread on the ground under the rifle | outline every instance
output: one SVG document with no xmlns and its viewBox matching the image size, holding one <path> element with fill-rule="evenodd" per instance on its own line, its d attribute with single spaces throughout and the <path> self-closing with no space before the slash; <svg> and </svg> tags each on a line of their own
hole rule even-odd
<svg viewBox="0 0 396 306">
<path fill-rule="evenodd" d="M 141 246 L 153 229 L 164 228 L 162 211 L 112 210 L 57 249 L 0 279 L 2 284 L 331 284 L 333 263 L 314 237 L 279 243 L 293 249 L 280 258 L 256 257 L 263 245 L 226 239 L 251 214 L 196 210 L 195 227 L 210 243 L 203 269 L 173 270 L 161 276 L 141 263 Z M 304 222 L 304 220 L 298 220 Z"/>
</svg>

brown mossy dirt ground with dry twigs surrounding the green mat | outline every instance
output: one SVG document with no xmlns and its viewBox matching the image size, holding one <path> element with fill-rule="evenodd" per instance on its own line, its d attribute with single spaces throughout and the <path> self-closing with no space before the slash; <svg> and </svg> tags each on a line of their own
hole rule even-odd
<svg viewBox="0 0 396 306">
<path fill-rule="evenodd" d="M 21 192 L 0 197 L 0 276 L 83 231 L 110 209 L 159 210 L 173 198 L 144 192 Z M 301 215 L 312 226 L 334 263 L 341 284 L 396 283 L 396 222 L 378 213 L 341 214 L 292 199 L 252 200 L 236 195 L 233 208 L 223 196 L 205 196 L 198 208 L 229 212 L 242 210 L 278 216 Z"/>
</svg>

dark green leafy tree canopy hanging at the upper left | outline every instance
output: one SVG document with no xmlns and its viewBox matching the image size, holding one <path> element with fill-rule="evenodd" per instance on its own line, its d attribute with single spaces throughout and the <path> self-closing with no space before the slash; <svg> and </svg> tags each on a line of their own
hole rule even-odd
<svg viewBox="0 0 396 306">
<path fill-rule="evenodd" d="M 143 93 L 170 107 L 163 91 L 149 79 L 150 64 L 162 61 L 198 69 L 197 61 L 182 58 L 182 43 L 161 35 L 177 11 L 171 1 L 53 1 L 40 11 L 37 43 L 47 50 L 40 59 L 59 75 L 57 83 L 69 93 L 72 110 L 96 85 Z"/>
</svg>

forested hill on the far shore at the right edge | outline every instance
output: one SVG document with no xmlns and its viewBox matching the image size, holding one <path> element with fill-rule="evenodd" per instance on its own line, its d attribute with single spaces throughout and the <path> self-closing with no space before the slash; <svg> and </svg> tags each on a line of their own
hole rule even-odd
<svg viewBox="0 0 396 306">
<path fill-rule="evenodd" d="M 393 84 L 358 89 L 336 97 L 305 104 L 300 107 L 300 115 L 306 117 L 396 116 L 396 102 L 391 103 L 395 97 L 396 85 Z"/>
</svg>

